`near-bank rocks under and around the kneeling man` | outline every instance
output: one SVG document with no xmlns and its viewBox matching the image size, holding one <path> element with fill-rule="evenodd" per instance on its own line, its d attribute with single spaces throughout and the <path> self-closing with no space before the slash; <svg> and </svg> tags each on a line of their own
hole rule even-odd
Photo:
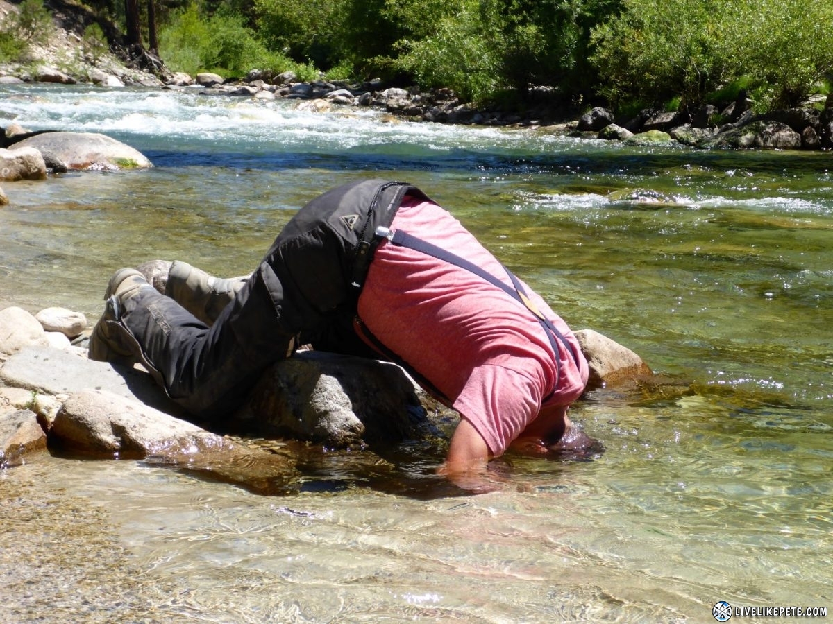
<svg viewBox="0 0 833 624">
<path fill-rule="evenodd" d="M 0 310 L 0 468 L 37 461 L 39 453 L 71 452 L 144 459 L 275 494 L 297 484 L 293 441 L 382 451 L 409 441 L 442 448 L 456 426 L 456 413 L 397 366 L 307 351 L 267 369 L 241 397 L 241 409 L 228 419 L 232 427 L 212 433 L 188 422 L 140 365 L 89 359 L 91 329 L 72 310 L 47 308 L 34 316 L 16 307 Z M 616 388 L 615 400 L 649 387 L 666 392 L 630 349 L 589 329 L 576 335 L 591 364 L 588 391 Z"/>
</svg>

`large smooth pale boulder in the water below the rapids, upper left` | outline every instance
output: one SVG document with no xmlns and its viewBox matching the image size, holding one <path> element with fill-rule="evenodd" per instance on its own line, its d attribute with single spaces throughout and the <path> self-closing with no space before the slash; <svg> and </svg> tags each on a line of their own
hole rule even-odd
<svg viewBox="0 0 833 624">
<path fill-rule="evenodd" d="M 153 164 L 142 152 L 97 132 L 42 132 L 18 141 L 61 161 L 73 171 L 146 169 Z"/>
</svg>

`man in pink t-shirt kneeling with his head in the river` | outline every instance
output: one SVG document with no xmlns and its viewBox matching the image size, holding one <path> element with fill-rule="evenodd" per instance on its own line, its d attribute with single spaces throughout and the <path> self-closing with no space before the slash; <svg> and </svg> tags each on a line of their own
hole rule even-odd
<svg viewBox="0 0 833 624">
<path fill-rule="evenodd" d="M 367 180 L 328 191 L 246 279 L 174 262 L 162 290 L 118 270 L 90 356 L 140 359 L 201 418 L 219 422 L 270 364 L 308 343 L 401 364 L 456 409 L 441 468 L 452 477 L 510 446 L 546 454 L 571 443 L 567 406 L 588 374 L 575 336 L 414 186 Z"/>
</svg>

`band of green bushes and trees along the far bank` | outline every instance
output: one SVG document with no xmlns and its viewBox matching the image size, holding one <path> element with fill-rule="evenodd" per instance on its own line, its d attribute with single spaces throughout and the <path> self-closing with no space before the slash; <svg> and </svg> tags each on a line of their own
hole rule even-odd
<svg viewBox="0 0 833 624">
<path fill-rule="evenodd" d="M 2 23 L 0 61 L 44 32 L 42 1 L 23 0 Z M 130 2 L 86 6 L 123 29 Z M 138 9 L 155 17 L 173 71 L 382 78 L 518 109 L 546 93 L 553 106 L 694 110 L 744 89 L 766 111 L 826 94 L 833 77 L 833 2 L 147 0 Z"/>
</svg>

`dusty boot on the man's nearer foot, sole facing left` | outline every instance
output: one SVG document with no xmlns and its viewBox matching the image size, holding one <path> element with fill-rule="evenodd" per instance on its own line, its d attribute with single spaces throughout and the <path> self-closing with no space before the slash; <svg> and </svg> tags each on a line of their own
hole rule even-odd
<svg viewBox="0 0 833 624">
<path fill-rule="evenodd" d="M 104 313 L 90 335 L 89 358 L 99 362 L 133 364 L 137 361 L 138 343 L 119 322 L 125 303 L 142 288 L 152 288 L 144 275 L 135 269 L 120 269 L 110 278 L 104 299 Z M 141 349 L 139 349 L 141 351 Z"/>
</svg>

